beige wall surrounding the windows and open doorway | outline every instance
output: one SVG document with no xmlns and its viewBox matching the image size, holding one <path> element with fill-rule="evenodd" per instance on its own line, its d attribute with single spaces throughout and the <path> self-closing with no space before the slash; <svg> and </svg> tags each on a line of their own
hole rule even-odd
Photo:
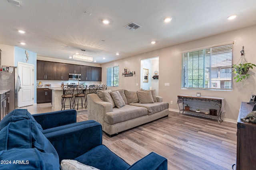
<svg viewBox="0 0 256 170">
<path fill-rule="evenodd" d="M 232 91 L 216 91 L 216 90 L 182 90 L 181 89 L 181 53 L 191 49 L 197 49 L 212 45 L 223 44 L 234 41 L 233 46 L 233 63 L 236 64 L 240 59 L 240 51 L 244 46 L 245 58 L 249 63 L 256 63 L 256 25 L 230 31 L 227 33 L 214 35 L 204 39 L 174 45 L 164 49 L 143 53 L 126 59 L 101 64 L 102 66 L 102 83 L 106 83 L 106 67 L 120 67 L 120 76 L 118 88 L 137 90 L 140 88 L 140 60 L 159 56 L 159 96 L 162 96 L 165 102 L 173 101 L 170 104 L 170 110 L 178 110 L 176 104 L 177 95 L 188 94 L 196 95 L 201 92 L 202 96 L 214 96 L 225 98 L 226 113 L 222 114 L 222 118 L 226 121 L 236 122 L 241 102 L 248 102 L 252 94 L 256 94 L 256 68 L 250 70 L 253 74 L 244 86 L 233 80 Z M 122 76 L 124 67 L 136 71 L 136 75 L 132 77 Z M 138 83 L 138 86 L 136 86 Z M 170 86 L 164 86 L 164 83 L 170 83 Z M 114 89 L 114 88 L 111 88 Z"/>
</svg>

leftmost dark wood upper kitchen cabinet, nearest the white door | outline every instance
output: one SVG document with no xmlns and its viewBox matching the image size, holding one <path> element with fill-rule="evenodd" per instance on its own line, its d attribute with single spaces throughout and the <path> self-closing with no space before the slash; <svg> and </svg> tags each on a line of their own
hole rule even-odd
<svg viewBox="0 0 256 170">
<path fill-rule="evenodd" d="M 53 80 L 54 63 L 50 61 L 37 61 L 37 80 Z"/>
</svg>

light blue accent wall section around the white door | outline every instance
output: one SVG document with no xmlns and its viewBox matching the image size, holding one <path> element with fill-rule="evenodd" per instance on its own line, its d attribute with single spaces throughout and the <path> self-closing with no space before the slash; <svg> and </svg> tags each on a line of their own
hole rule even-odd
<svg viewBox="0 0 256 170">
<path fill-rule="evenodd" d="M 26 57 L 25 51 L 28 52 L 28 61 L 26 61 L 27 57 Z M 18 66 L 18 62 L 34 65 L 34 103 L 35 104 L 36 104 L 36 56 L 37 54 L 32 51 L 21 49 L 19 47 L 14 47 L 14 66 Z"/>
</svg>

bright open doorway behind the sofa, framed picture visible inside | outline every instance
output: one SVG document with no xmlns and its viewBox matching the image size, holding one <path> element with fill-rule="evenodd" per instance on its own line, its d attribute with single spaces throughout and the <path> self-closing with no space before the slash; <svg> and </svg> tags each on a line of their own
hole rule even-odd
<svg viewBox="0 0 256 170">
<path fill-rule="evenodd" d="M 156 90 L 158 95 L 158 79 L 153 76 L 158 76 L 159 57 L 152 57 L 140 61 L 140 88 L 144 90 Z M 146 79 L 145 79 L 146 78 Z"/>
</svg>

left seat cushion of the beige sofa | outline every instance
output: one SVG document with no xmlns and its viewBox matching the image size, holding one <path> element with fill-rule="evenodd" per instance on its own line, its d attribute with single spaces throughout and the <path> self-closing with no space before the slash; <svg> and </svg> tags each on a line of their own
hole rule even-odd
<svg viewBox="0 0 256 170">
<path fill-rule="evenodd" d="M 130 120 L 130 119 L 135 119 L 137 117 L 141 117 L 147 114 L 148 114 L 148 111 L 144 107 L 125 105 L 120 109 L 113 108 L 113 111 L 106 113 L 104 117 L 104 121 L 112 125 L 115 123 Z"/>
</svg>

